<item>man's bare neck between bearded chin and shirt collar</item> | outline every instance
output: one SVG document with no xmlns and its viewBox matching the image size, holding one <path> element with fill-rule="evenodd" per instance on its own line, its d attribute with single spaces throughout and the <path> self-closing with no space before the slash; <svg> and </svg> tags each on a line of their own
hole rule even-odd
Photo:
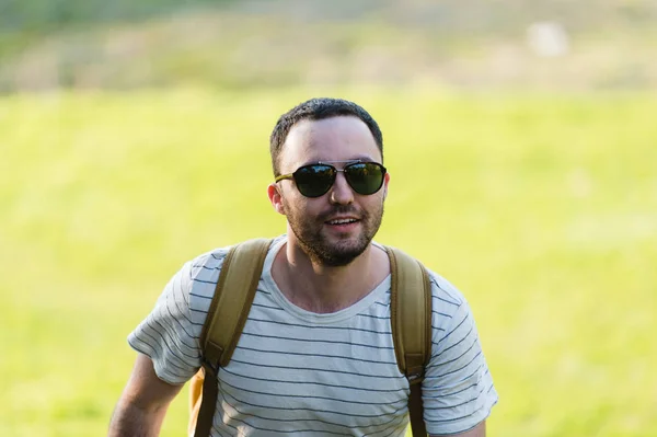
<svg viewBox="0 0 657 437">
<path fill-rule="evenodd" d="M 367 296 L 390 274 L 390 263 L 383 250 L 370 244 L 348 265 L 326 266 L 313 262 L 288 239 L 272 274 L 290 302 L 307 311 L 330 313 Z"/>
</svg>

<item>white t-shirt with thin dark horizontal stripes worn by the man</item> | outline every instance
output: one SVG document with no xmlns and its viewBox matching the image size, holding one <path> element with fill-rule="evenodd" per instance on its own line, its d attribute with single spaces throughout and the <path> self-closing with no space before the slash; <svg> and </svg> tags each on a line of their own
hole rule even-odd
<svg viewBox="0 0 657 437">
<path fill-rule="evenodd" d="M 318 314 L 284 297 L 272 264 L 275 240 L 232 359 L 219 369 L 211 435 L 403 436 L 408 381 L 390 325 L 390 276 L 344 310 Z M 128 336 L 160 379 L 184 383 L 200 367 L 199 336 L 228 248 L 186 263 L 152 312 Z M 468 302 L 431 273 L 431 359 L 423 382 L 429 434 L 453 434 L 486 418 L 497 393 Z"/>
</svg>

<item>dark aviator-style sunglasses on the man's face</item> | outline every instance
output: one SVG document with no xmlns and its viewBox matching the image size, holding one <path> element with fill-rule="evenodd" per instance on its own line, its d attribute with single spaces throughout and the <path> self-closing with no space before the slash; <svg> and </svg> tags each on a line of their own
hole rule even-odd
<svg viewBox="0 0 657 437">
<path fill-rule="evenodd" d="M 348 162 L 348 164 L 343 170 L 337 170 L 328 162 Z M 300 166 L 293 173 L 281 174 L 276 177 L 276 182 L 291 179 L 303 196 L 320 197 L 328 193 L 328 189 L 335 183 L 337 172 L 343 172 L 351 189 L 364 196 L 369 196 L 381 189 L 383 176 L 385 176 L 385 168 L 377 162 L 327 161 Z"/>
</svg>

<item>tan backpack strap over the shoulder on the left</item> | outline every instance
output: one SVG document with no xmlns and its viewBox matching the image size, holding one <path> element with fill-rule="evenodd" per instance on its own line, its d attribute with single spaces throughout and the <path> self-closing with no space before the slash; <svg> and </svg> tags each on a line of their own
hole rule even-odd
<svg viewBox="0 0 657 437">
<path fill-rule="evenodd" d="M 217 407 L 217 373 L 230 363 L 255 290 L 272 240 L 255 239 L 234 245 L 221 266 L 215 296 L 200 334 L 203 350 L 203 396 L 196 422 L 196 437 L 207 437 Z"/>
</svg>

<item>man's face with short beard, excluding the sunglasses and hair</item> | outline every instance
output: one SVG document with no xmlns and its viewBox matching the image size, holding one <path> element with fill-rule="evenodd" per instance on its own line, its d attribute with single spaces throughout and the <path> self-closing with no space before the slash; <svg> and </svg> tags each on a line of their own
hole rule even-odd
<svg viewBox="0 0 657 437">
<path fill-rule="evenodd" d="M 292 126 L 279 158 L 280 172 L 287 174 L 319 161 L 380 163 L 381 152 L 365 123 L 357 117 L 338 116 Z M 346 163 L 332 165 L 342 170 Z M 331 189 L 314 198 L 299 193 L 292 180 L 283 180 L 270 187 L 270 193 L 275 188 L 280 196 L 272 202 L 278 202 L 275 207 L 287 217 L 290 241 L 298 243 L 313 262 L 344 266 L 368 248 L 379 230 L 388 180 L 385 174 L 377 193 L 360 195 L 338 172 Z"/>
</svg>

